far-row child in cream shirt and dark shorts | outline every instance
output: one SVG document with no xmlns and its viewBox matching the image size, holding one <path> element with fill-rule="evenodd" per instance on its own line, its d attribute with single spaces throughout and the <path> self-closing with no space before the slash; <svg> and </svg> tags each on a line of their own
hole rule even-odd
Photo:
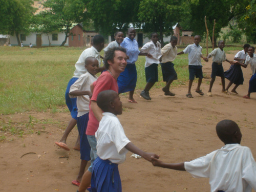
<svg viewBox="0 0 256 192">
<path fill-rule="evenodd" d="M 177 80 L 177 73 L 174 69 L 174 59 L 177 56 L 177 41 L 178 38 L 176 36 L 170 37 L 170 43 L 166 44 L 162 50 L 161 54 L 162 57 L 161 60 L 161 68 L 162 68 L 162 74 L 163 74 L 163 81 L 166 82 L 166 86 L 162 89 L 164 92 L 164 95 L 169 96 L 175 96 L 175 93 L 172 93 L 169 91 L 170 84 Z"/>
</svg>

